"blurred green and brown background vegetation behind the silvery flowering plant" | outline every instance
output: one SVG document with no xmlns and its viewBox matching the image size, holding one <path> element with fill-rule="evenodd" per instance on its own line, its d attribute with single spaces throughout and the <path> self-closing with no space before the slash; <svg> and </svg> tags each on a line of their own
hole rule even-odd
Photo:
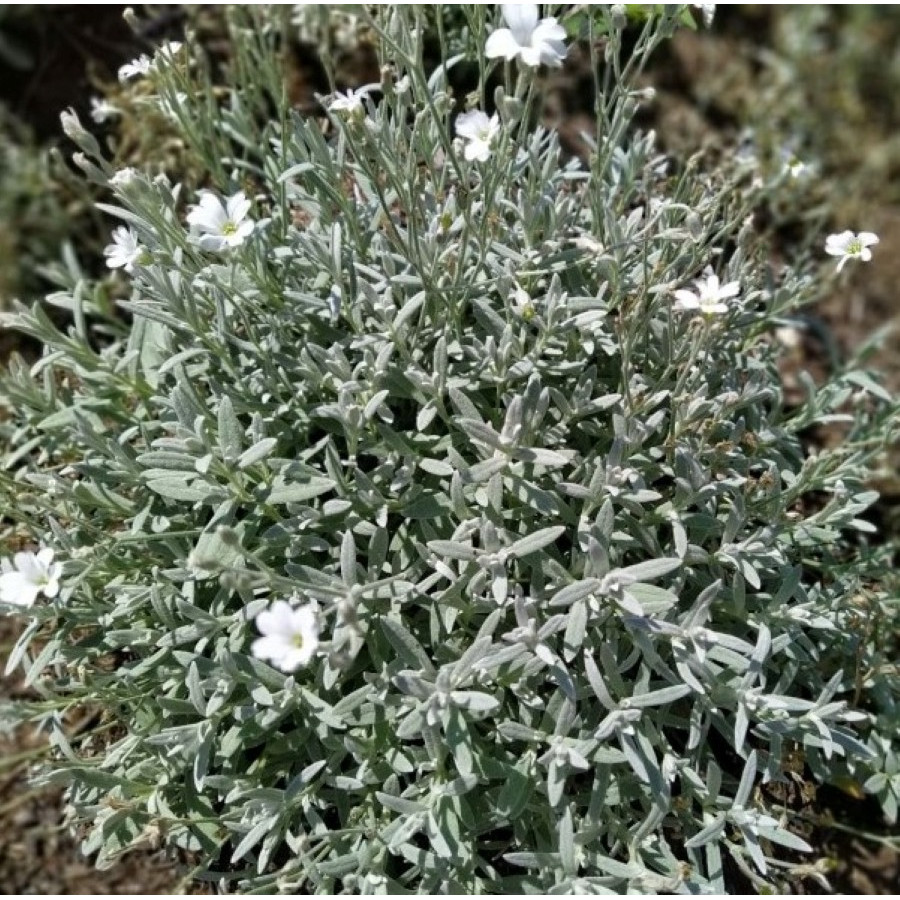
<svg viewBox="0 0 900 900">
<path fill-rule="evenodd" d="M 191 180 L 188 148 L 165 118 L 142 103 L 140 79 L 121 84 L 118 67 L 154 44 L 196 35 L 214 62 L 229 48 L 216 8 L 146 6 L 133 31 L 124 7 L 0 7 L 0 308 L 45 293 L 60 265 L 96 269 L 107 241 L 92 192 L 63 159 L 71 147 L 59 113 L 73 107 L 108 143 L 119 165 Z M 632 7 L 639 15 L 639 7 Z M 290 7 L 272 9 L 284 30 L 286 89 L 305 111 L 323 89 L 309 29 Z M 293 19 L 293 21 L 292 21 Z M 307 16 L 308 19 L 308 16 Z M 352 29 L 350 31 L 352 35 Z M 347 34 L 331 51 L 347 85 L 377 76 L 374 60 Z M 573 54 L 551 84 L 557 125 L 577 135 L 589 77 Z M 644 123 L 674 155 L 698 148 L 758 153 L 770 164 L 787 156 L 809 167 L 765 211 L 777 234 L 774 252 L 789 257 L 822 241 L 825 230 L 875 231 L 876 264 L 841 280 L 822 315 L 849 349 L 897 312 L 889 247 L 900 238 L 900 8 L 894 6 L 728 6 L 712 28 L 684 29 L 659 54 L 647 83 L 658 94 Z M 552 108 L 552 107 L 551 107 Z M 577 149 L 577 138 L 571 141 Z M 830 261 L 823 259 L 823 265 Z M 102 268 L 102 267 L 101 267 Z M 848 324 L 843 321 L 847 318 Z M 881 360 L 891 366 L 898 345 Z M 898 376 L 891 376 L 897 384 Z"/>
</svg>

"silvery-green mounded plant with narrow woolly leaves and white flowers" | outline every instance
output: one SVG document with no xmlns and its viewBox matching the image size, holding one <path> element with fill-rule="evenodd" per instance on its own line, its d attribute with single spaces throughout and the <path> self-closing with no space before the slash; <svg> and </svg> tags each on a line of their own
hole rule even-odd
<svg viewBox="0 0 900 900">
<path fill-rule="evenodd" d="M 622 7 L 463 7 L 452 40 L 363 10 L 381 80 L 321 118 L 257 15 L 230 92 L 190 42 L 123 73 L 204 190 L 64 119 L 128 290 L 73 274 L 66 331 L 3 318 L 45 347 L 0 388 L 8 668 L 85 849 L 166 842 L 241 890 L 721 891 L 806 864 L 766 792 L 798 754 L 896 815 L 864 487 L 896 409 L 855 367 L 785 406 L 821 268 L 774 271 L 750 214 L 791 172 L 634 128 L 694 13 L 626 43 Z M 576 38 L 587 165 L 537 124 Z M 823 240 L 829 277 L 874 237 Z M 85 704 L 105 734 L 71 744 Z"/>
</svg>

